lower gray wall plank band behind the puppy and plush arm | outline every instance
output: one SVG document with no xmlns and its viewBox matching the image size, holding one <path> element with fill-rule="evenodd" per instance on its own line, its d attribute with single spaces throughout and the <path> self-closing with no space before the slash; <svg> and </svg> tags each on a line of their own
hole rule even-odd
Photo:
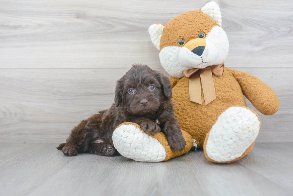
<svg viewBox="0 0 293 196">
<path fill-rule="evenodd" d="M 81 120 L 114 103 L 115 82 L 127 70 L 2 69 L 0 141 L 64 142 Z M 258 112 L 262 130 L 257 142 L 292 142 L 293 69 L 239 70 L 263 80 L 280 99 L 275 115 Z M 248 107 L 254 108 L 246 101 Z"/>
</svg>

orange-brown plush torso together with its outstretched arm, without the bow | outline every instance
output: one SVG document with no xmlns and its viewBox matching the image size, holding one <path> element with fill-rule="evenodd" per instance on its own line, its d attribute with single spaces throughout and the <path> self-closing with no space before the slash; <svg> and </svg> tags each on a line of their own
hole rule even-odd
<svg viewBox="0 0 293 196">
<path fill-rule="evenodd" d="M 189 83 L 186 77 L 181 78 L 172 89 L 174 110 L 180 128 L 196 139 L 199 146 L 203 146 L 206 134 L 222 112 L 232 106 L 246 106 L 243 94 L 263 114 L 272 115 L 279 109 L 276 93 L 253 75 L 225 67 L 222 76 L 213 75 L 213 82 L 216 100 L 207 106 L 203 93 L 202 105 L 189 101 Z"/>
</svg>

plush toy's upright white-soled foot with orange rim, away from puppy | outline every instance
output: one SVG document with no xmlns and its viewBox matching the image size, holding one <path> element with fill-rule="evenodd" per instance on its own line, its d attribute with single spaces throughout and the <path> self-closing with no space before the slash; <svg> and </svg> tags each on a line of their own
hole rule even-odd
<svg viewBox="0 0 293 196">
<path fill-rule="evenodd" d="M 217 163 L 241 159 L 252 150 L 259 131 L 257 113 L 247 107 L 230 107 L 219 116 L 207 134 L 205 156 Z"/>
</svg>

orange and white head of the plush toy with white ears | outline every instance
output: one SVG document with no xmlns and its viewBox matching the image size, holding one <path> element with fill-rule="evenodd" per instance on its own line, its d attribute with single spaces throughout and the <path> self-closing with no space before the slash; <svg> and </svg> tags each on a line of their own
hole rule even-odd
<svg viewBox="0 0 293 196">
<path fill-rule="evenodd" d="M 176 16 L 166 25 L 151 25 L 152 43 L 160 51 L 161 64 L 168 74 L 181 78 L 186 69 L 221 64 L 229 51 L 221 24 L 219 5 L 211 1 L 200 10 Z"/>
</svg>

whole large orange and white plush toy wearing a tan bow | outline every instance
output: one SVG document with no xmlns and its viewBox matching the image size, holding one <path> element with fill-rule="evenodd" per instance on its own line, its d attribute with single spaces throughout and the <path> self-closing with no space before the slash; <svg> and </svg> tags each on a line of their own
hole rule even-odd
<svg viewBox="0 0 293 196">
<path fill-rule="evenodd" d="M 208 160 L 228 163 L 252 150 L 261 123 L 257 113 L 246 107 L 243 95 L 265 115 L 277 112 L 279 100 L 258 78 L 224 66 L 229 42 L 221 23 L 220 8 L 211 1 L 166 25 L 149 27 L 161 64 L 172 76 L 174 110 L 186 146 L 175 152 L 163 133 L 149 136 L 137 124 L 124 123 L 113 133 L 120 154 L 159 162 L 200 146 Z"/>
</svg>

